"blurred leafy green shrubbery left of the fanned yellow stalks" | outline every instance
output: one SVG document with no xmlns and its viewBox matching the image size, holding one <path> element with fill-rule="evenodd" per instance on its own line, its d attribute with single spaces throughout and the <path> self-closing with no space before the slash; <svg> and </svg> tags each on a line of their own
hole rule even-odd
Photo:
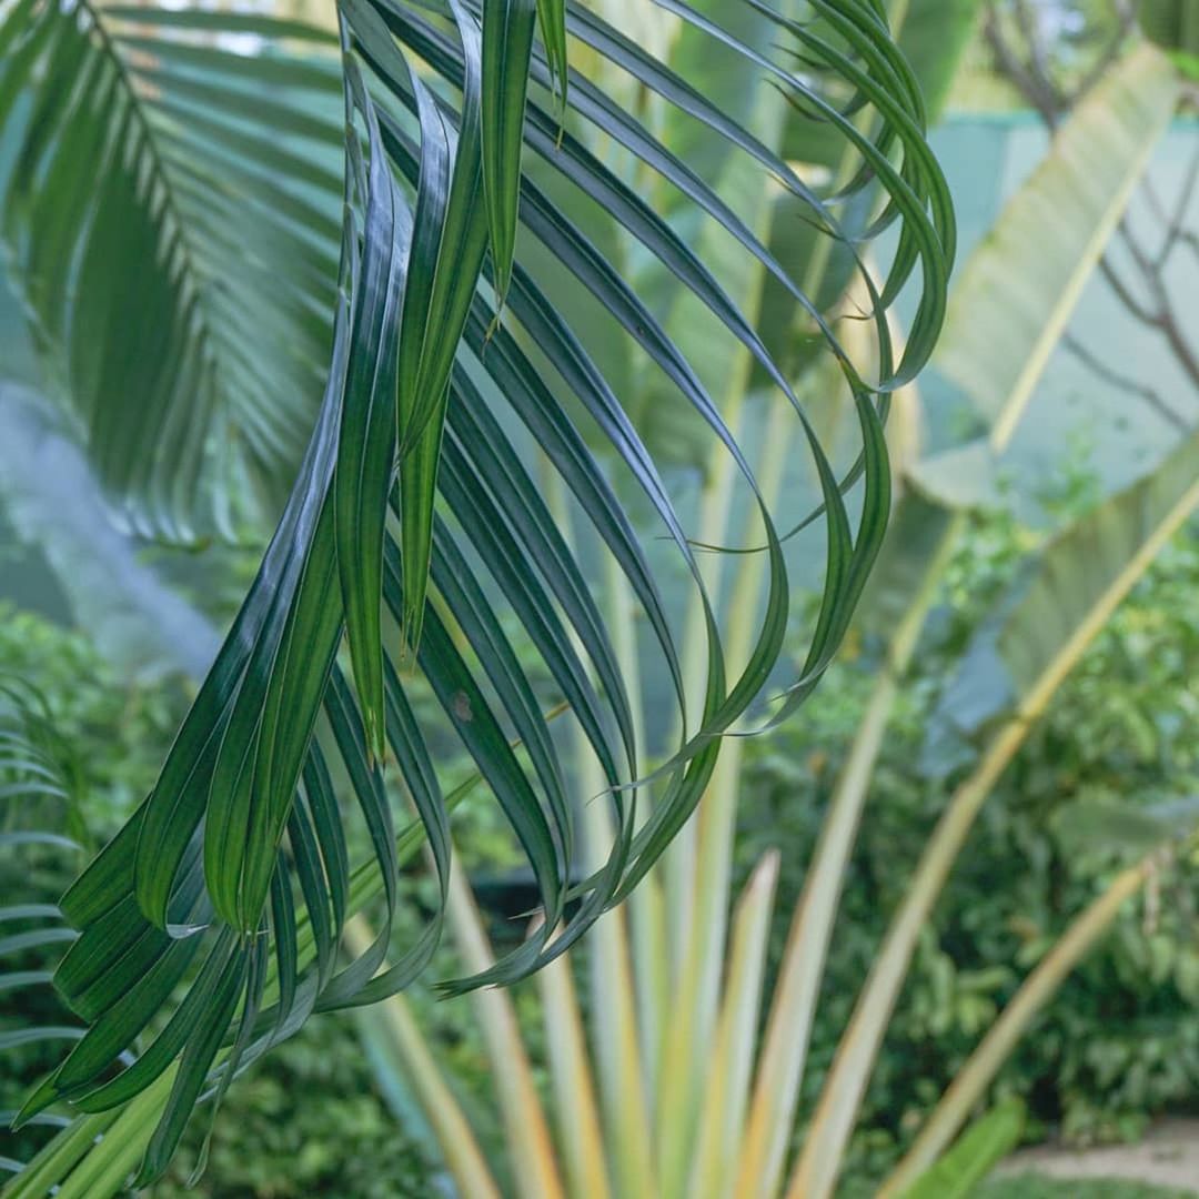
<svg viewBox="0 0 1199 1199">
<path fill-rule="evenodd" d="M 170 743 L 186 697 L 170 681 L 141 686 L 118 677 L 80 631 L 43 617 L 0 608 L 0 662 L 36 685 L 70 749 L 78 818 L 71 831 L 95 846 L 107 838 L 152 784 Z M 489 805 L 474 805 L 465 860 L 471 868 L 510 868 L 513 851 Z M 53 903 L 78 868 L 76 855 L 61 849 L 36 857 L 26 850 L 0 857 L 0 896 Z M 415 912 L 435 898 L 435 884 L 420 875 L 405 881 L 404 910 L 414 914 L 400 936 L 418 932 Z M 19 932 L 10 923 L 0 932 Z M 53 964 L 61 945 L 7 957 L 0 966 L 34 970 Z M 441 972 L 460 969 L 442 951 Z M 531 996 L 530 996 L 531 998 Z M 421 1025 L 442 1047 L 468 1092 L 486 1102 L 486 1072 L 477 1030 L 465 1001 L 439 1004 L 428 993 L 414 995 Z M 46 986 L 0 990 L 0 1031 L 73 1024 L 74 1018 Z M 61 1056 L 61 1042 L 5 1052 L 0 1072 L 0 1110 L 13 1110 L 35 1080 Z M 285 1199 L 330 1194 L 339 1199 L 424 1199 L 442 1194 L 428 1144 L 405 1132 L 374 1083 L 374 1072 L 354 1025 L 321 1017 L 285 1042 L 233 1087 L 212 1123 L 209 1165 L 195 1187 L 189 1175 L 209 1131 L 197 1120 L 179 1161 L 150 1194 L 240 1195 Z M 477 1093 L 476 1093 L 477 1092 Z M 0 1134 L 0 1155 L 28 1159 L 46 1140 L 34 1126 Z"/>
</svg>

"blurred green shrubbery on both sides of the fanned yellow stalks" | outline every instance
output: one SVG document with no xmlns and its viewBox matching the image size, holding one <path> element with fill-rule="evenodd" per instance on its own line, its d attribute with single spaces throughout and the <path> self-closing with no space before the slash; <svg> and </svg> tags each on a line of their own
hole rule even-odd
<svg viewBox="0 0 1199 1199">
<path fill-rule="evenodd" d="M 1087 499 L 1086 481 L 1073 477 L 1050 507 L 1065 518 Z M 903 885 L 893 863 L 915 852 L 944 800 L 944 790 L 928 787 L 914 766 L 939 681 L 980 613 L 1038 540 L 1011 520 L 980 519 L 947 571 L 928 652 L 905 689 L 846 888 L 815 1031 L 809 1096 L 827 1066 L 881 918 Z M 1099 638 L 984 815 L 917 956 L 890 1052 L 868 1097 L 862 1123 L 870 1131 L 855 1146 L 858 1175 L 893 1155 L 915 1114 L 935 1098 L 1018 978 L 1116 868 L 1109 849 L 1064 849 L 1077 805 L 1122 797 L 1129 781 L 1146 801 L 1199 790 L 1199 695 L 1183 669 L 1199 652 L 1189 607 L 1197 586 L 1199 547 L 1188 531 Z M 112 824 L 152 778 L 181 697 L 169 685 L 119 686 L 85 637 L 29 614 L 7 610 L 0 638 L 4 661 L 29 671 L 80 747 L 89 813 Z M 855 649 L 857 661 L 829 680 L 824 703 L 802 728 L 784 729 L 751 751 L 742 861 L 757 860 L 766 844 L 782 844 L 784 862 L 805 861 L 837 755 L 872 682 L 872 647 Z M 490 806 L 481 806 L 471 825 L 490 830 L 470 842 L 472 863 L 511 864 Z M 796 872 L 784 872 L 782 912 L 801 881 Z M 1179 1017 L 1199 1002 L 1199 954 L 1189 928 L 1197 894 L 1181 864 L 1162 870 L 1157 890 L 1152 926 L 1146 928 L 1143 910 L 1121 918 L 1104 950 L 1052 1005 L 1035 1048 L 1018 1053 L 1001 1077 L 1001 1092 L 1029 1098 L 1034 1129 L 1060 1122 L 1076 1139 L 1127 1135 L 1146 1113 L 1186 1101 L 1199 1068 L 1199 1042 Z M 427 904 L 435 880 L 417 878 L 406 893 L 416 904 L 402 906 Z M 402 939 L 411 932 L 415 924 L 402 930 Z M 779 924 L 776 948 L 783 934 Z M 456 968 L 448 960 L 436 964 L 441 974 Z M 525 1001 L 535 999 L 522 988 Z M 417 995 L 414 1002 L 451 1073 L 466 1083 L 465 1101 L 472 1111 L 484 1109 L 484 1054 L 468 1005 Z M 1110 1018 L 1113 1011 L 1121 1013 L 1120 1020 Z M 532 1013 L 523 1024 L 535 1028 L 540 1020 Z M 217 1120 L 206 1193 L 285 1195 L 320 1193 L 321 1187 L 363 1199 L 432 1193 L 420 1189 L 427 1163 L 403 1140 L 366 1071 L 354 1037 L 327 1018 L 311 1036 L 267 1058 L 231 1090 L 228 1110 Z M 156 1194 L 181 1193 L 203 1134 L 203 1121 L 198 1123 L 181 1164 Z M 486 1123 L 476 1127 L 481 1135 L 494 1135 Z M 249 1152 L 254 1145 L 260 1146 L 257 1156 Z M 360 1175 L 355 1171 L 363 1162 L 372 1169 Z M 381 1189 L 372 1189 L 375 1176 Z M 285 1189 L 291 1183 L 296 1189 Z"/>
</svg>

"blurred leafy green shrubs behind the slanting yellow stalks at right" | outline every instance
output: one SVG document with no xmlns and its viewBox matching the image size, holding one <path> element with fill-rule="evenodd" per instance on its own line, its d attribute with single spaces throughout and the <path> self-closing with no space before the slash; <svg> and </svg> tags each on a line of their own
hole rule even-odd
<svg viewBox="0 0 1199 1199">
<path fill-rule="evenodd" d="M 1052 507 L 1073 510 L 1086 490 L 1074 480 Z M 906 885 L 897 866 L 915 858 L 953 782 L 929 779 L 921 769 L 941 686 L 982 613 L 1041 536 L 1006 518 L 977 518 L 946 572 L 846 880 L 805 1081 L 808 1101 L 819 1093 Z M 855 1173 L 874 1174 L 890 1161 L 1020 978 L 1127 863 L 1110 840 L 1078 836 L 1095 806 L 1132 799 L 1151 807 L 1199 794 L 1199 686 L 1186 669 L 1199 652 L 1195 588 L 1192 526 L 1109 622 L 983 809 L 922 936 L 866 1099 Z M 743 870 L 770 845 L 783 849 L 784 863 L 808 860 L 873 682 L 872 646 L 857 649 L 809 719 L 751 747 L 741 796 Z M 784 866 L 779 911 L 790 910 L 802 881 Z M 1028 1101 L 1030 1137 L 1052 1125 L 1073 1141 L 1127 1138 L 1149 1115 L 1191 1102 L 1199 1072 L 1197 905 L 1191 863 L 1163 864 L 1146 903 L 1121 915 L 1049 1005 L 996 1083 L 998 1095 Z M 776 960 L 785 932 L 776 920 Z"/>
</svg>

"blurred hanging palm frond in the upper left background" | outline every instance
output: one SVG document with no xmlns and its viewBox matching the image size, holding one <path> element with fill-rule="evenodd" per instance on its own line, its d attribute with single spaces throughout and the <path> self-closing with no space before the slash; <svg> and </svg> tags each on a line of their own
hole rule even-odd
<svg viewBox="0 0 1199 1199">
<path fill-rule="evenodd" d="M 343 141 L 336 60 L 279 49 L 326 35 L 187 18 L 20 0 L 0 65 L 2 236 L 47 385 L 126 519 L 183 540 L 225 472 L 285 494 L 327 366 Z"/>
</svg>

